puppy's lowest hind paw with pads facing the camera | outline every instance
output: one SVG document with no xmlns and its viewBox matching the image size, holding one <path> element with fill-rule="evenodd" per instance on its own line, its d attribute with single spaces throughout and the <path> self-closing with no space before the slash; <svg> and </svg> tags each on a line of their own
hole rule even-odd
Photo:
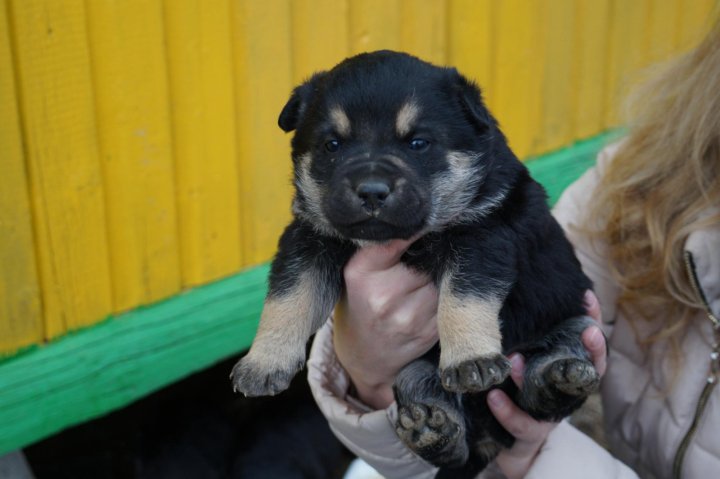
<svg viewBox="0 0 720 479">
<path fill-rule="evenodd" d="M 409 403 L 398 409 L 395 431 L 418 456 L 441 465 L 463 464 L 468 458 L 465 423 L 443 402 Z"/>
</svg>

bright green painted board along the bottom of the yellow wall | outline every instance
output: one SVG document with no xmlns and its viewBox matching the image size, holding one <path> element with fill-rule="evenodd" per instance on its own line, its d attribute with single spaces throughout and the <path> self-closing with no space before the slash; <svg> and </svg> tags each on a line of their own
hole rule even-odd
<svg viewBox="0 0 720 479">
<path fill-rule="evenodd" d="M 613 136 L 528 161 L 551 202 Z M 268 270 L 258 266 L 0 360 L 0 455 L 239 354 L 255 335 Z"/>
</svg>

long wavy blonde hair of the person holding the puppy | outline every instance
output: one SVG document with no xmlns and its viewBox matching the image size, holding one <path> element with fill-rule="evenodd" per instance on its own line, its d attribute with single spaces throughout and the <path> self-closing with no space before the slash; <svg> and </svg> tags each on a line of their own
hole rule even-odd
<svg viewBox="0 0 720 479">
<path fill-rule="evenodd" d="M 641 344 L 669 338 L 677 346 L 702 307 L 687 275 L 685 241 L 720 222 L 712 209 L 720 206 L 720 21 L 698 47 L 646 81 L 628 111 L 629 133 L 590 218 L 607 219 L 597 234 L 622 287 L 619 307 L 631 324 L 637 317 L 662 321 Z"/>
</svg>

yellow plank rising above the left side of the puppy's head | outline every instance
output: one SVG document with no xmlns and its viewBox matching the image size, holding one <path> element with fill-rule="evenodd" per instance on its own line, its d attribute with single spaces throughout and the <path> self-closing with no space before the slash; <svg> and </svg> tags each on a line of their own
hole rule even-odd
<svg viewBox="0 0 720 479">
<path fill-rule="evenodd" d="M 348 0 L 293 0 L 291 7 L 293 81 L 300 83 L 349 55 L 349 6 Z"/>
</svg>

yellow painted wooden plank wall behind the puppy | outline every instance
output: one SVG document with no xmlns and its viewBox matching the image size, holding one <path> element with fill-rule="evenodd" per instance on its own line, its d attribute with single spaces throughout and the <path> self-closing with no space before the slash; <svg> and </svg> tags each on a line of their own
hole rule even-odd
<svg viewBox="0 0 720 479">
<path fill-rule="evenodd" d="M 293 85 L 390 48 L 484 88 L 521 157 L 618 121 L 715 0 L 0 0 L 0 353 L 268 260 Z"/>
</svg>

